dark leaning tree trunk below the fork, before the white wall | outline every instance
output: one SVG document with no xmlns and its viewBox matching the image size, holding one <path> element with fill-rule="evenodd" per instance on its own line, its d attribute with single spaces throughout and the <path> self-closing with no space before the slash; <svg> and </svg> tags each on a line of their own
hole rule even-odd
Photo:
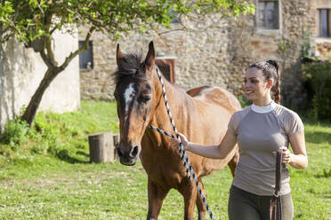
<svg viewBox="0 0 331 220">
<path fill-rule="evenodd" d="M 42 82 L 39 84 L 38 88 L 35 91 L 35 94 L 32 96 L 30 102 L 28 103 L 28 107 L 22 115 L 22 119 L 28 122 L 28 127 L 31 127 L 32 122 L 35 120 L 36 110 L 40 105 L 41 99 L 43 98 L 44 91 L 48 88 L 48 86 L 52 83 L 53 79 L 56 75 L 60 74 L 61 70 L 51 69 L 50 67 L 47 69 L 44 74 L 44 78 Z"/>
</svg>

